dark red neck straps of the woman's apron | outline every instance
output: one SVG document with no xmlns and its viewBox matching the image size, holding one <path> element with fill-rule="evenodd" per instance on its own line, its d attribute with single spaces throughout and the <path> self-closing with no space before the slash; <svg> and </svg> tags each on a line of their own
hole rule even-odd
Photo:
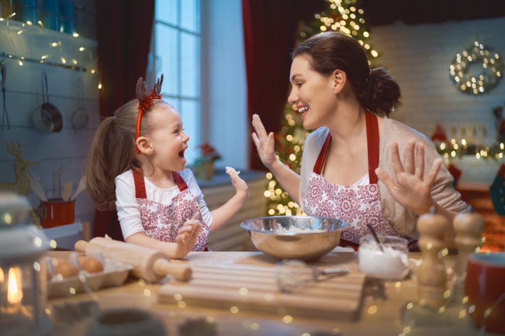
<svg viewBox="0 0 505 336">
<path fill-rule="evenodd" d="M 370 179 L 370 184 L 376 184 L 377 175 L 375 174 L 375 169 L 379 166 L 379 123 L 377 122 L 376 116 L 369 111 L 365 111 L 365 124 L 367 128 L 368 177 Z M 328 156 L 330 144 L 331 134 L 328 133 L 323 147 L 321 148 L 321 152 L 319 152 L 319 156 L 314 164 L 314 173 L 318 175 L 321 175 L 323 171 L 323 165 Z"/>
</svg>

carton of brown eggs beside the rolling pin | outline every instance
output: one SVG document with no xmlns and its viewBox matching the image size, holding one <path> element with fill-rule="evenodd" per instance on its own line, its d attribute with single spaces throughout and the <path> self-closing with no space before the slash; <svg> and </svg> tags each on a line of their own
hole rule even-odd
<svg viewBox="0 0 505 336">
<path fill-rule="evenodd" d="M 75 276 L 64 278 L 55 274 L 47 283 L 49 298 L 69 296 L 82 292 L 95 292 L 102 288 L 121 286 L 133 266 L 115 259 L 105 259 L 104 270 L 90 273 L 80 270 Z"/>
</svg>

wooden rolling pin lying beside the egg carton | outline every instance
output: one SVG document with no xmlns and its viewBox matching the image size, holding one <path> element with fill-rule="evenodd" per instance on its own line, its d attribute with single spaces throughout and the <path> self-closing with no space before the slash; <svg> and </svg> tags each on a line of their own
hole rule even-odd
<svg viewBox="0 0 505 336">
<path fill-rule="evenodd" d="M 191 277 L 189 266 L 171 263 L 165 254 L 147 247 L 103 237 L 95 237 L 89 242 L 79 240 L 74 247 L 77 252 L 89 255 L 100 250 L 106 258 L 132 265 L 133 275 L 151 282 L 159 282 L 166 275 L 180 281 L 188 281 Z"/>
</svg>

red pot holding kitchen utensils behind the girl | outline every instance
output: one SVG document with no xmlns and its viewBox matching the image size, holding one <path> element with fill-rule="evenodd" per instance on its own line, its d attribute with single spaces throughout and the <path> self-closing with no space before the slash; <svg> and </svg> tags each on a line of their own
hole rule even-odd
<svg viewBox="0 0 505 336">
<path fill-rule="evenodd" d="M 40 201 L 40 225 L 42 228 L 54 228 L 74 222 L 75 200 L 63 201 L 49 199 Z"/>
</svg>

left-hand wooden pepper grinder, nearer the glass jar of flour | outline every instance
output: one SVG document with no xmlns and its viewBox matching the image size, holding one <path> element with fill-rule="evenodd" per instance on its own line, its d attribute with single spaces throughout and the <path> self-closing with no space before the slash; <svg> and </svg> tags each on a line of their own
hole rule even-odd
<svg viewBox="0 0 505 336">
<path fill-rule="evenodd" d="M 449 221 L 441 214 L 425 213 L 417 220 L 418 241 L 423 262 L 417 268 L 418 294 L 428 307 L 438 308 L 444 305 L 443 294 L 447 287 L 447 273 L 439 258 L 444 248 L 444 236 L 449 229 Z M 441 255 L 441 254 L 440 254 Z"/>
</svg>

